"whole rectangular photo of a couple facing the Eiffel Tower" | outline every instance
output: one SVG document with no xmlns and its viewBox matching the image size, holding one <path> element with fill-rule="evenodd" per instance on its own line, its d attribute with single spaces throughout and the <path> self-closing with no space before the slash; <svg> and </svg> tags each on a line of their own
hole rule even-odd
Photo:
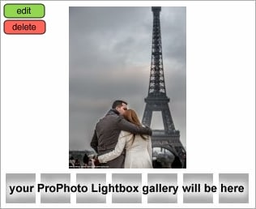
<svg viewBox="0 0 256 209">
<path fill-rule="evenodd" d="M 69 25 L 69 168 L 186 168 L 186 7 L 70 7 Z"/>
</svg>

